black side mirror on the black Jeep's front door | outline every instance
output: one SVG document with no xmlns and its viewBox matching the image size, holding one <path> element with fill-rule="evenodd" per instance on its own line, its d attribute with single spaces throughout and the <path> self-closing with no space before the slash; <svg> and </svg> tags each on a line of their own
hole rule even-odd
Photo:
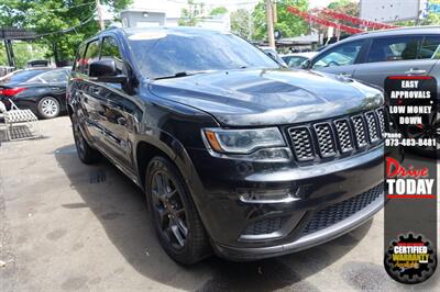
<svg viewBox="0 0 440 292">
<path fill-rule="evenodd" d="M 113 59 L 94 60 L 89 64 L 90 79 L 99 82 L 123 83 L 127 76 L 119 74 L 117 63 Z"/>
</svg>

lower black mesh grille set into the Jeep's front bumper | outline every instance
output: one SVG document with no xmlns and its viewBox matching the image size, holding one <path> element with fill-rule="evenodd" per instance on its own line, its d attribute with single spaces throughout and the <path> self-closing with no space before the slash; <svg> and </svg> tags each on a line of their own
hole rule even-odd
<svg viewBox="0 0 440 292">
<path fill-rule="evenodd" d="M 311 217 L 307 226 L 302 229 L 301 236 L 319 232 L 344 218 L 350 217 L 351 215 L 370 205 L 383 193 L 383 191 L 384 184 L 381 183 L 356 196 L 318 211 Z"/>
</svg>

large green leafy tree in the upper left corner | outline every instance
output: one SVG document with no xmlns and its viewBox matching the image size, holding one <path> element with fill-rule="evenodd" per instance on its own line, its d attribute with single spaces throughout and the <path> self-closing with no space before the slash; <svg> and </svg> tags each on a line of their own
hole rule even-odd
<svg viewBox="0 0 440 292">
<path fill-rule="evenodd" d="M 131 0 L 101 0 L 118 12 Z M 47 57 L 57 65 L 73 59 L 85 38 L 98 32 L 95 21 L 96 4 L 90 0 L 0 0 L 0 26 L 35 31 L 38 42 L 51 46 Z"/>
</svg>

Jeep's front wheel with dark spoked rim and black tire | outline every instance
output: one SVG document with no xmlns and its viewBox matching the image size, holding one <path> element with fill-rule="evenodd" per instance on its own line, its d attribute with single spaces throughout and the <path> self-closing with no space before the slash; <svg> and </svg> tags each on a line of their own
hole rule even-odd
<svg viewBox="0 0 440 292">
<path fill-rule="evenodd" d="M 145 184 L 152 222 L 169 257 L 188 266 L 209 256 L 207 233 L 177 168 L 162 156 L 154 157 L 146 169 Z"/>
</svg>

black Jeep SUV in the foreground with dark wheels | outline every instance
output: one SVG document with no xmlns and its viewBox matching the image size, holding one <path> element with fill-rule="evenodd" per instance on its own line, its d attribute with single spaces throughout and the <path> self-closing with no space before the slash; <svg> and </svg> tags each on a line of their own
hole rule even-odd
<svg viewBox="0 0 440 292">
<path fill-rule="evenodd" d="M 180 263 L 308 248 L 383 205 L 381 91 L 290 70 L 229 33 L 112 29 L 78 49 L 67 89 L 79 158 L 145 191 Z"/>
</svg>

